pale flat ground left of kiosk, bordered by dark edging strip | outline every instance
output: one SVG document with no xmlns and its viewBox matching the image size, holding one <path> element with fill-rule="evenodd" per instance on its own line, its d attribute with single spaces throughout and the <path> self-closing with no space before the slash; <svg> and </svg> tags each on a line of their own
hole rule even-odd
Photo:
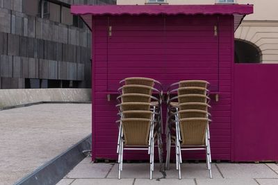
<svg viewBox="0 0 278 185">
<path fill-rule="evenodd" d="M 13 184 L 91 133 L 91 105 L 3 110 L 0 128 L 0 184 Z"/>
</svg>

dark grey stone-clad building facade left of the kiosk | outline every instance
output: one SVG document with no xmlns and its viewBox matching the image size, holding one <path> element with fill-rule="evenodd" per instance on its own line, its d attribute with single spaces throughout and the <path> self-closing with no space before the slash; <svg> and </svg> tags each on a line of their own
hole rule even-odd
<svg viewBox="0 0 278 185">
<path fill-rule="evenodd" d="M 90 30 L 70 5 L 107 3 L 0 0 L 0 89 L 90 87 Z"/>
</svg>

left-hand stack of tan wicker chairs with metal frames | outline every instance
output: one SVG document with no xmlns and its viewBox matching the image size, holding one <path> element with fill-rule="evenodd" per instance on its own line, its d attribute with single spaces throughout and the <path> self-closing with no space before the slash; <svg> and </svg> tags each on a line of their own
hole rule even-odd
<svg viewBox="0 0 278 185">
<path fill-rule="evenodd" d="M 151 78 L 125 78 L 120 82 L 117 97 L 119 104 L 117 121 L 119 135 L 117 153 L 119 163 L 119 179 L 121 178 L 124 150 L 148 150 L 150 161 L 150 179 L 154 170 L 154 144 L 162 146 L 162 87 Z M 153 96 L 158 95 L 158 98 Z M 158 147 L 161 164 L 162 148 Z"/>
</svg>

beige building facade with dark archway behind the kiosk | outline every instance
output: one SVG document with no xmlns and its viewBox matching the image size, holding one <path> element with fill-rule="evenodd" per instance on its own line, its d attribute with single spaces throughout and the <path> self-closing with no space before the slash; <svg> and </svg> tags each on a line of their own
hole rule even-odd
<svg viewBox="0 0 278 185">
<path fill-rule="evenodd" d="M 235 62 L 278 62 L 277 0 L 117 0 L 124 4 L 254 4 L 254 14 L 247 15 L 235 33 Z"/>
</svg>

